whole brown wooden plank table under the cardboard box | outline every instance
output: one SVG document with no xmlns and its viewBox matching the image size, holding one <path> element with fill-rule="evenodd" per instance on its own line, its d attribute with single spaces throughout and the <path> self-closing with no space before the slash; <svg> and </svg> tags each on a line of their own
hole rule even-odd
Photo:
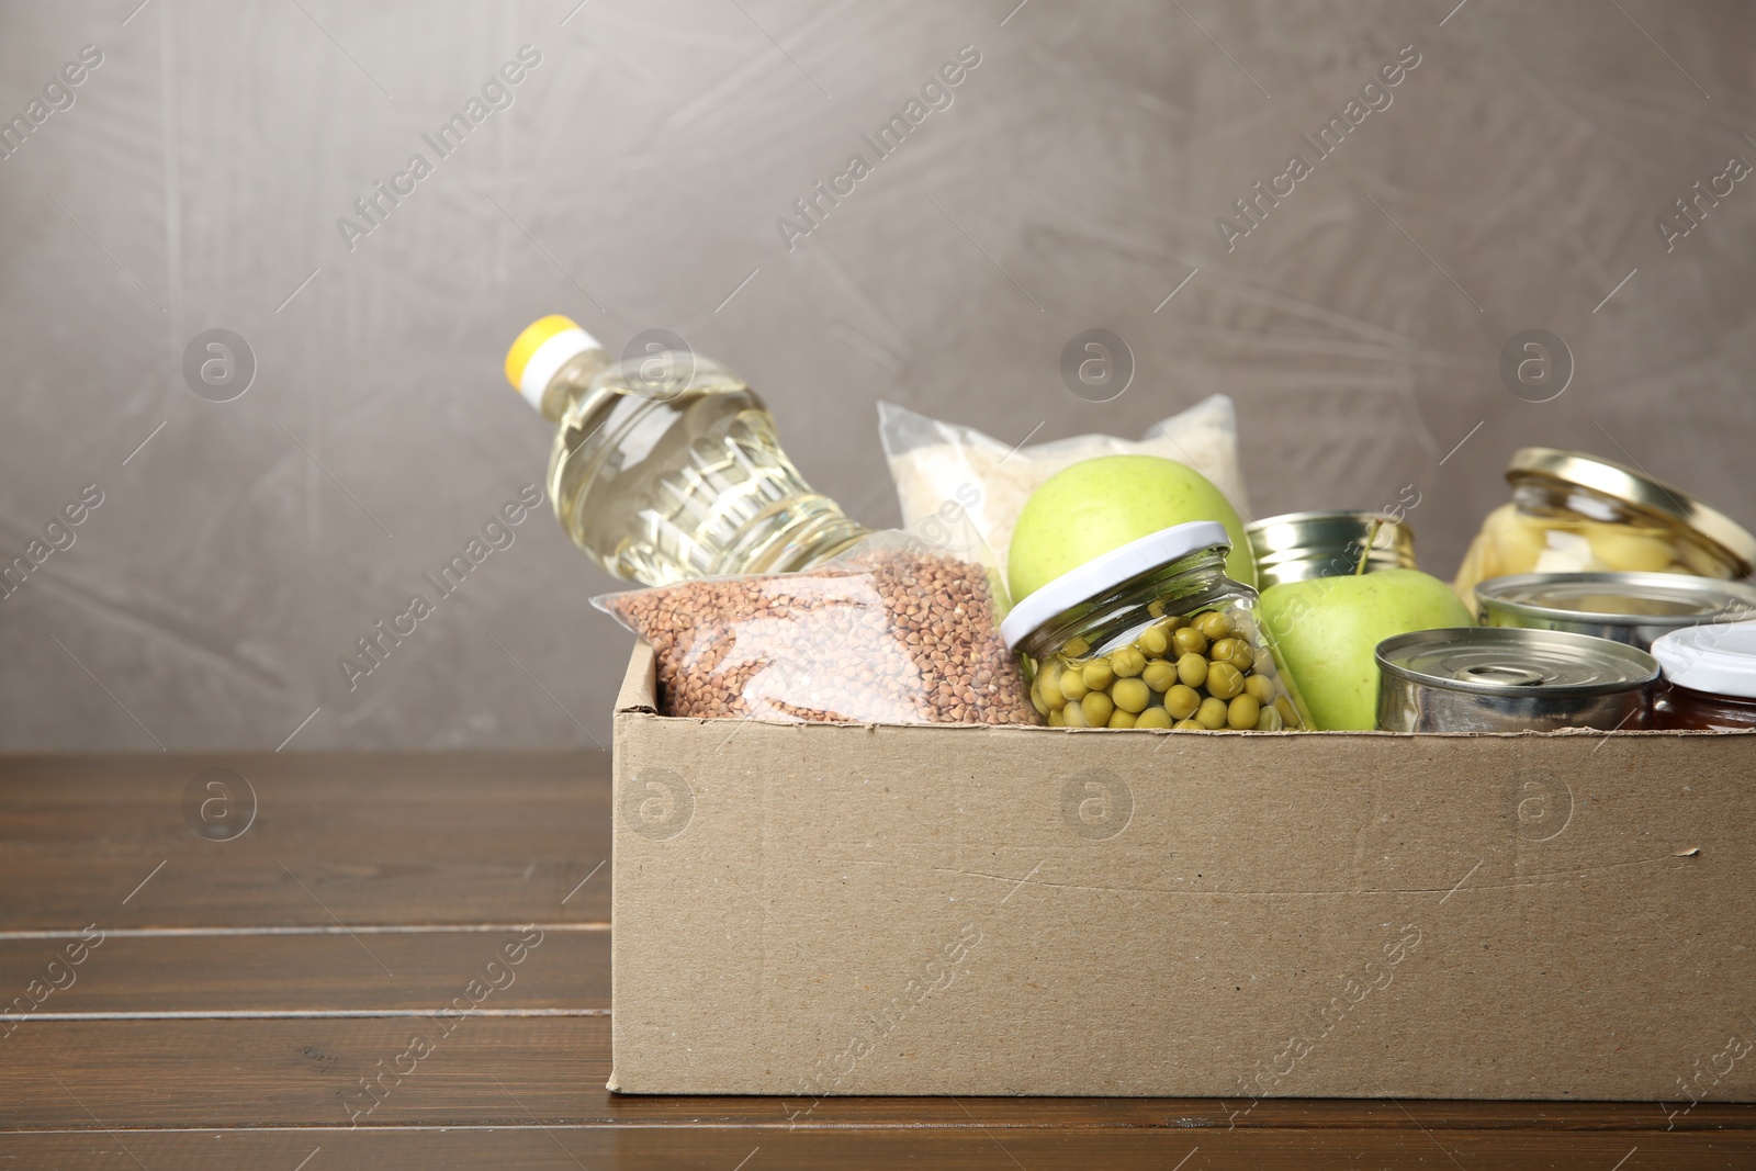
<svg viewBox="0 0 1756 1171">
<path fill-rule="evenodd" d="M 1756 1166 L 1716 1103 L 609 1094 L 608 776 L 0 758 L 0 1167 Z"/>
</svg>

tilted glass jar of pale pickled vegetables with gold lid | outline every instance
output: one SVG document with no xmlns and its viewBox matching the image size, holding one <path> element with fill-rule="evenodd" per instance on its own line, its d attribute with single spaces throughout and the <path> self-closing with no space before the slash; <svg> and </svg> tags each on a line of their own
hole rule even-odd
<svg viewBox="0 0 1756 1171">
<path fill-rule="evenodd" d="M 1524 448 L 1512 502 L 1487 514 L 1452 588 L 1475 609 L 1487 578 L 1551 572 L 1751 572 L 1756 535 L 1688 492 L 1579 451 Z"/>
</svg>

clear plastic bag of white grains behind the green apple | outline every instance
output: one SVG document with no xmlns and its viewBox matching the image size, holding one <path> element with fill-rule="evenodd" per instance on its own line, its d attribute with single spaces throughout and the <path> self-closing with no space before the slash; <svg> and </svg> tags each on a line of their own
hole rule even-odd
<svg viewBox="0 0 1756 1171">
<path fill-rule="evenodd" d="M 1138 439 L 1076 435 L 1020 448 L 973 427 L 943 423 L 892 402 L 878 404 L 903 527 L 961 511 L 994 550 L 999 565 L 1011 548 L 1011 527 L 1024 502 L 1055 472 L 1103 455 L 1155 455 L 1196 469 L 1249 514 L 1238 472 L 1238 418 L 1231 399 L 1213 395 L 1182 414 L 1154 423 Z"/>
</svg>

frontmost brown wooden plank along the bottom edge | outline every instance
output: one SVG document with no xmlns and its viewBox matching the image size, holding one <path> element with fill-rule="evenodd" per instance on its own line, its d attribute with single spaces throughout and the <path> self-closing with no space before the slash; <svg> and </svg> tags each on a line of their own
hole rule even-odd
<svg viewBox="0 0 1756 1171">
<path fill-rule="evenodd" d="M 787 1167 L 918 1167 L 924 1171 L 1045 1171 L 1115 1167 L 1117 1171 L 1306 1171 L 1312 1167 L 1498 1167 L 1551 1171 L 1600 1167 L 1749 1166 L 1749 1136 L 1700 1131 L 1603 1134 L 1522 1131 L 1421 1131 L 1405 1124 L 1384 1131 L 1061 1131 L 1029 1127 L 987 1131 L 785 1131 L 678 1127 L 653 1129 L 302 1129 L 9 1134 L 0 1136 L 0 1169 L 54 1166 L 153 1171 L 207 1167 L 277 1167 L 283 1171 L 399 1171 L 402 1167 L 497 1167 L 504 1171 L 783 1171 Z M 132 1159 L 130 1159 L 132 1157 Z M 304 1162 L 309 1159 L 309 1162 Z"/>
</svg>

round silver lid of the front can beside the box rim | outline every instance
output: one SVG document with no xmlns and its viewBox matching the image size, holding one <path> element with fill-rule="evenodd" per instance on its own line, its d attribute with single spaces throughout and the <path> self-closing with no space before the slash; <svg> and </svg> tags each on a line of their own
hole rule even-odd
<svg viewBox="0 0 1756 1171">
<path fill-rule="evenodd" d="M 1568 630 L 1454 627 L 1378 643 L 1378 671 L 1449 692 L 1584 699 L 1658 679 L 1642 650 Z"/>
</svg>

